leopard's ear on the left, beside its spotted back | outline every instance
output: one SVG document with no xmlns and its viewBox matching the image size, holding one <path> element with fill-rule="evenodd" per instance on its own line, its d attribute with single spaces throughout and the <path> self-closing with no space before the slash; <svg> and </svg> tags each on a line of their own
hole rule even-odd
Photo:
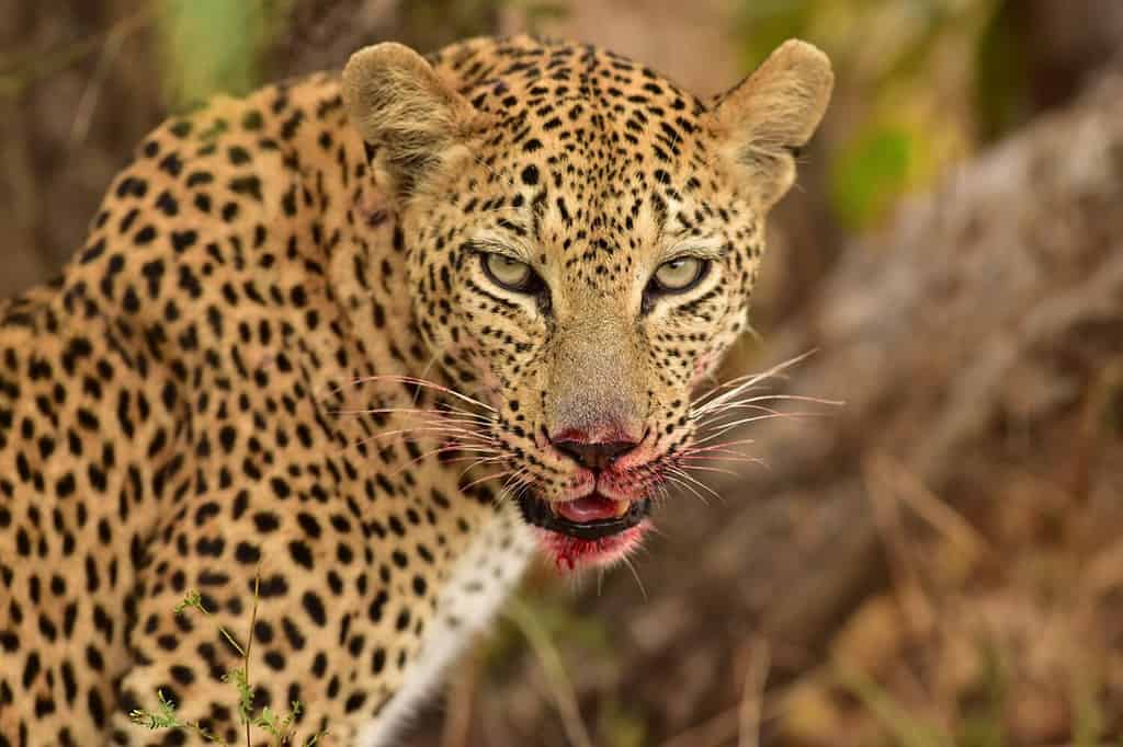
<svg viewBox="0 0 1123 747">
<path fill-rule="evenodd" d="M 454 156 L 476 116 L 421 55 L 393 42 L 351 55 L 343 95 L 372 165 L 400 199 Z"/>
</svg>

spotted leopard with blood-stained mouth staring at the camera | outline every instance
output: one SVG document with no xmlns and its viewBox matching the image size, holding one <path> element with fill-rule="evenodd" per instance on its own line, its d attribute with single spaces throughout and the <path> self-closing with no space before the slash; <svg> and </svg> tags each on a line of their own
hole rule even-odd
<svg viewBox="0 0 1123 747">
<path fill-rule="evenodd" d="M 0 305 L 0 746 L 250 744 L 245 648 L 291 744 L 395 744 L 535 559 L 627 560 L 832 84 L 386 42 L 155 129 Z"/>
</svg>

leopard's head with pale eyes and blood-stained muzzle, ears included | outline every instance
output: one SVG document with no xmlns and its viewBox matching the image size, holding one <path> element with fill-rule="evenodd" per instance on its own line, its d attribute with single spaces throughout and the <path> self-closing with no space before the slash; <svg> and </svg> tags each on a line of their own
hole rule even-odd
<svg viewBox="0 0 1123 747">
<path fill-rule="evenodd" d="M 696 453 L 692 394 L 746 326 L 832 79 L 789 43 L 706 104 L 611 53 L 510 44 L 499 68 L 373 47 L 345 98 L 426 341 L 487 405 L 483 461 L 558 562 L 612 561 Z"/>
</svg>

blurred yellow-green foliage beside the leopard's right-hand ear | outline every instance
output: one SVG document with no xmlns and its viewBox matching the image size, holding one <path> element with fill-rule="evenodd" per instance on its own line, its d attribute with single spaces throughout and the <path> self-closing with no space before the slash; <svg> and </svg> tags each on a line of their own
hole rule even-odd
<svg viewBox="0 0 1123 747">
<path fill-rule="evenodd" d="M 1019 122 L 1025 65 L 1007 0 L 746 0 L 747 66 L 801 37 L 833 59 L 831 208 L 851 230 Z"/>
</svg>

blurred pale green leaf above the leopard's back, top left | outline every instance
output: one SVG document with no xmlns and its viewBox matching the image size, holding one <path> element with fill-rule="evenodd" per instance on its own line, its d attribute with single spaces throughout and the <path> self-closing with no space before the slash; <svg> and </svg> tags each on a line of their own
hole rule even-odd
<svg viewBox="0 0 1123 747">
<path fill-rule="evenodd" d="M 265 80 L 265 55 L 293 0 L 156 0 L 161 91 L 182 110 L 216 93 L 245 94 Z"/>
</svg>

